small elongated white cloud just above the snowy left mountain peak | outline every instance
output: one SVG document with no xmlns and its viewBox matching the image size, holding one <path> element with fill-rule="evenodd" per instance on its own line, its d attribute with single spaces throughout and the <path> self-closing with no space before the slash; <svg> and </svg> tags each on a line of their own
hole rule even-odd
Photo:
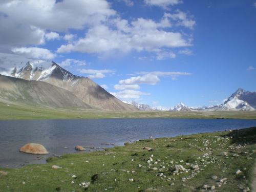
<svg viewBox="0 0 256 192">
<path fill-rule="evenodd" d="M 20 47 L 12 49 L 13 53 L 23 55 L 28 58 L 34 59 L 53 59 L 56 54 L 52 53 L 48 49 L 37 48 L 37 47 Z"/>
</svg>

